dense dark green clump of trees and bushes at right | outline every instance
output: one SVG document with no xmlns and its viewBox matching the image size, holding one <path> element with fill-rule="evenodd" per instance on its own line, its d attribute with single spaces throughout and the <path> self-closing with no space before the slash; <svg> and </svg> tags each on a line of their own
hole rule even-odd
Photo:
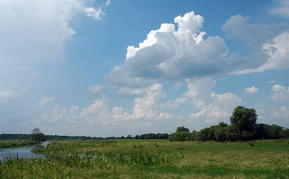
<svg viewBox="0 0 289 179">
<path fill-rule="evenodd" d="M 289 129 L 276 124 L 257 123 L 256 110 L 237 106 L 230 117 L 231 124 L 219 122 L 201 129 L 189 131 L 188 128 L 178 127 L 176 132 L 169 135 L 170 141 L 249 141 L 258 139 L 288 139 Z"/>
</svg>

